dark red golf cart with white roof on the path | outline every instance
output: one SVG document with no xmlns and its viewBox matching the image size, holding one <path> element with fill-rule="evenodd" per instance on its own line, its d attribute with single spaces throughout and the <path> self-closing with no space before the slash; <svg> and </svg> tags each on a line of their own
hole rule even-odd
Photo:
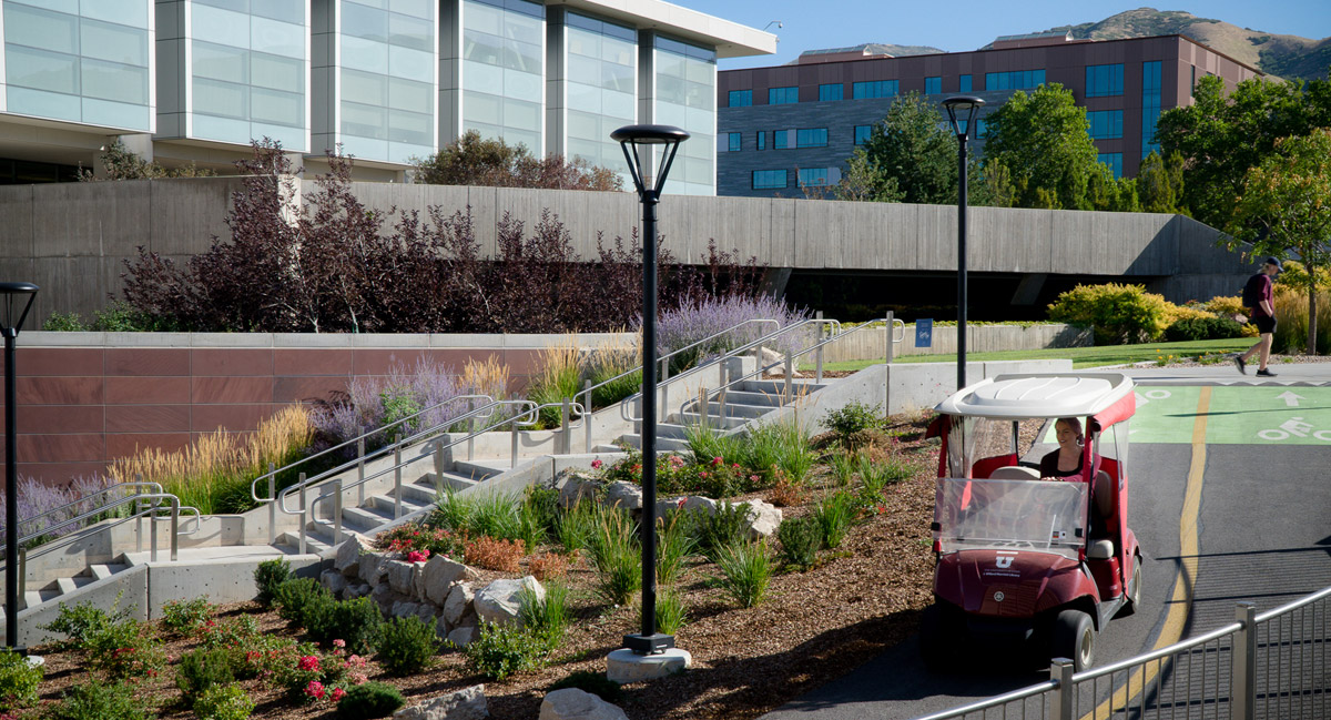
<svg viewBox="0 0 1331 720">
<path fill-rule="evenodd" d="M 1025 643 L 1041 660 L 1091 665 L 1095 635 L 1141 602 L 1127 527 L 1133 381 L 1117 373 L 998 375 L 937 407 L 934 604 L 920 651 L 942 669 L 972 643 Z M 1082 422 L 1081 472 L 1041 479 L 1057 418 Z M 1021 421 L 1044 421 L 1021 455 Z M 1028 423 L 1028 427 L 1032 423 Z M 1029 435 L 1029 431 L 1028 431 Z"/>
</svg>

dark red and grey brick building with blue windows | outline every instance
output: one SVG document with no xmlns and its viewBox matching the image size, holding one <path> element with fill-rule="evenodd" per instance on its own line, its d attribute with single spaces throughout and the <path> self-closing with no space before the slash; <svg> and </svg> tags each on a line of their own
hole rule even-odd
<svg viewBox="0 0 1331 720">
<path fill-rule="evenodd" d="M 1134 177 L 1163 110 L 1191 102 L 1206 75 L 1234 85 L 1262 73 L 1181 35 L 1073 40 L 1062 33 L 1000 37 L 974 52 L 892 57 L 873 45 L 813 51 L 799 63 L 725 71 L 717 83 L 717 193 L 797 197 L 835 185 L 892 101 L 986 102 L 972 148 L 984 152 L 985 116 L 1017 90 L 1058 83 L 1086 108 L 1099 160 Z M 976 137 L 976 134 L 978 137 Z"/>
</svg>

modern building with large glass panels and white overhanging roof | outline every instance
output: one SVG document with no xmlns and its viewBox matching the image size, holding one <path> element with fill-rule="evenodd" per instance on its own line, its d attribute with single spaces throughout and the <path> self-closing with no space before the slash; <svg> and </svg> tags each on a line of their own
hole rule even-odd
<svg viewBox="0 0 1331 720">
<path fill-rule="evenodd" d="M 716 60 L 776 39 L 659 0 L 0 0 L 0 184 L 72 180 L 114 137 L 232 172 L 272 138 L 401 180 L 466 130 L 620 169 L 679 125 L 669 190 L 715 194 Z"/>
</svg>

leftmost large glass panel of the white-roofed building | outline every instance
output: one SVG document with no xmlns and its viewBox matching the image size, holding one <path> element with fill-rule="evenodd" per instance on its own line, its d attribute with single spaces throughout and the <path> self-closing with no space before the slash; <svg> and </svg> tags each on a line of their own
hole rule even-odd
<svg viewBox="0 0 1331 720">
<path fill-rule="evenodd" d="M 152 132 L 149 0 L 4 0 L 5 110 Z"/>
</svg>

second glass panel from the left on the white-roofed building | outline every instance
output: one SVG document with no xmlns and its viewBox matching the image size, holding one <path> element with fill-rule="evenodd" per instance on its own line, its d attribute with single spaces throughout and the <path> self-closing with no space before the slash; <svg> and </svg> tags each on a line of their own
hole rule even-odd
<svg viewBox="0 0 1331 720">
<path fill-rule="evenodd" d="M 186 134 L 309 152 L 306 0 L 192 0 Z"/>
</svg>

